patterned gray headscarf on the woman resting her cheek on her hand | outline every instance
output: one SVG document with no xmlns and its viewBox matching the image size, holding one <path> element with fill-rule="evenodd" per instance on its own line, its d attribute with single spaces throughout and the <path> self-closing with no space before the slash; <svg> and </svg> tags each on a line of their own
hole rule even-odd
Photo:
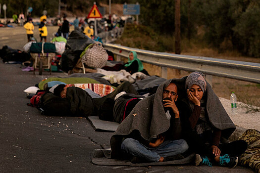
<svg viewBox="0 0 260 173">
<path fill-rule="evenodd" d="M 188 78 L 185 81 L 186 90 L 190 90 L 194 84 L 200 86 L 202 88 L 203 93 L 206 92 L 207 83 L 202 72 L 193 72 L 188 76 Z"/>
</svg>

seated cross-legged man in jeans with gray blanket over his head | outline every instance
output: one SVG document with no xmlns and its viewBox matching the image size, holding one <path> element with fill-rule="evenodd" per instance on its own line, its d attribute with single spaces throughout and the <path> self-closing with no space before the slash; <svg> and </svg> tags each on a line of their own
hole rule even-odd
<svg viewBox="0 0 260 173">
<path fill-rule="evenodd" d="M 139 101 L 110 139 L 111 158 L 132 163 L 184 159 L 188 144 L 181 139 L 177 98 L 177 86 L 168 80 Z"/>
</svg>

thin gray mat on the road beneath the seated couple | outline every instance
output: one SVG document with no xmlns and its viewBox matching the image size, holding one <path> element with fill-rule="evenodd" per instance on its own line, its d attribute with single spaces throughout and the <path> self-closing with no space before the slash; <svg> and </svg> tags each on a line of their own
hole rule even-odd
<svg viewBox="0 0 260 173">
<path fill-rule="evenodd" d="M 189 155 L 188 157 L 181 160 L 173 160 L 168 162 L 151 162 L 151 163 L 138 163 L 133 164 L 127 160 L 116 160 L 110 159 L 111 149 L 96 149 L 92 156 L 92 163 L 96 165 L 110 165 L 110 166 L 152 166 L 152 165 L 179 165 L 179 164 L 188 164 L 191 163 L 194 159 L 195 153 Z"/>
</svg>

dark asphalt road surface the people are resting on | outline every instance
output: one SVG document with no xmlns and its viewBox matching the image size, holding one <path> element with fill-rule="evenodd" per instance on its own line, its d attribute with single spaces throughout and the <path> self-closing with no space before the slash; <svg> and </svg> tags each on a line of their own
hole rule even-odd
<svg viewBox="0 0 260 173">
<path fill-rule="evenodd" d="M 51 27 L 48 28 L 52 33 Z M 52 27 L 53 31 L 56 30 Z M 0 48 L 9 45 L 21 49 L 26 41 L 22 27 L 0 28 Z M 38 74 L 38 73 L 36 73 Z M 52 77 L 64 77 L 52 73 Z M 236 169 L 191 165 L 126 167 L 92 164 L 95 149 L 109 148 L 111 132 L 98 132 L 90 122 L 79 117 L 41 115 L 29 107 L 24 89 L 44 78 L 22 72 L 18 64 L 0 61 L 0 173 L 252 173 Z"/>
</svg>

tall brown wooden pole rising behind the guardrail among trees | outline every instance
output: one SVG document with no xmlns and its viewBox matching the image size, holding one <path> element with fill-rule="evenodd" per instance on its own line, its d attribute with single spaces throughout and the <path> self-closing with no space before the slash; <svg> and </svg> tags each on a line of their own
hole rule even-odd
<svg viewBox="0 0 260 173">
<path fill-rule="evenodd" d="M 181 54 L 181 3 L 175 0 L 175 53 Z"/>
</svg>

